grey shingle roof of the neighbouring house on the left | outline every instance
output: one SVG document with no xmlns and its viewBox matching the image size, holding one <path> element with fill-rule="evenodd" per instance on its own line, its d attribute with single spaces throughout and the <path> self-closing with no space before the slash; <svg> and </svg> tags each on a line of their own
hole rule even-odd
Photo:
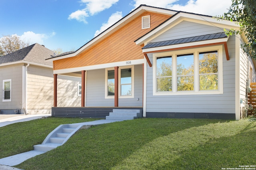
<svg viewBox="0 0 256 170">
<path fill-rule="evenodd" d="M 0 64 L 2 63 L 12 63 L 15 61 L 29 61 L 32 63 L 51 65 L 51 61 L 46 61 L 45 59 L 53 55 L 53 51 L 40 45 L 38 43 L 32 44 L 28 47 L 22 48 L 13 53 L 4 55 L 0 57 Z"/>
</svg>

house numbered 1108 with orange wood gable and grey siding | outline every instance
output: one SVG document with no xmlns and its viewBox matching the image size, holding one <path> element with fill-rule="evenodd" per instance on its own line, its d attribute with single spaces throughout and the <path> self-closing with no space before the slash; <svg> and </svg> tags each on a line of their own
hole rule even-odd
<svg viewBox="0 0 256 170">
<path fill-rule="evenodd" d="M 59 75 L 81 76 L 74 112 L 140 108 L 143 117 L 238 120 L 255 67 L 240 47 L 246 37 L 226 36 L 224 28 L 239 26 L 141 5 L 78 50 L 47 61 L 55 86 Z M 57 93 L 52 114 L 64 116 Z"/>
</svg>

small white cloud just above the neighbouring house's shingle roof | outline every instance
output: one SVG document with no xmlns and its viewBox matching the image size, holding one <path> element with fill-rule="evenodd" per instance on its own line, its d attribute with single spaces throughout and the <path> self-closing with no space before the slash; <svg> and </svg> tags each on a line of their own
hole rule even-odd
<svg viewBox="0 0 256 170">
<path fill-rule="evenodd" d="M 30 42 L 30 43 L 39 43 L 41 45 L 44 45 L 44 40 L 55 36 L 55 32 L 52 32 L 50 34 L 36 34 L 32 31 L 24 32 L 22 36 L 20 36 L 21 40 L 25 42 Z"/>
</svg>

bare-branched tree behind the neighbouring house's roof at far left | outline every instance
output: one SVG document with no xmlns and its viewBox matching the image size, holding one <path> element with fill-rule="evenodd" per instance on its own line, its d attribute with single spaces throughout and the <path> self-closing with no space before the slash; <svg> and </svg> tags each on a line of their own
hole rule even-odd
<svg viewBox="0 0 256 170">
<path fill-rule="evenodd" d="M 27 47 L 28 45 L 30 45 L 30 42 L 22 41 L 16 34 L 3 36 L 0 38 L 0 57 Z"/>
</svg>

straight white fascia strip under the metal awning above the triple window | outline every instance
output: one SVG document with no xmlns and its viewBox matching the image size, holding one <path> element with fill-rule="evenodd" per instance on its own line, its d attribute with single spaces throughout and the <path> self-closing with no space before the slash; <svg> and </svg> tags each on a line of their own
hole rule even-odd
<svg viewBox="0 0 256 170">
<path fill-rule="evenodd" d="M 199 41 L 199 42 L 190 42 L 190 43 L 180 43 L 180 44 L 175 44 L 175 45 L 166 45 L 162 47 L 153 47 L 153 48 L 147 48 L 143 49 L 143 53 L 150 53 L 151 51 L 161 51 L 165 49 L 176 49 L 180 47 L 190 47 L 190 46 L 195 46 L 195 45 L 204 45 L 204 44 L 212 44 L 212 43 L 220 43 L 220 42 L 227 42 L 228 38 L 219 38 L 219 39 L 214 39 L 214 40 L 205 40 L 205 41 Z"/>
</svg>

